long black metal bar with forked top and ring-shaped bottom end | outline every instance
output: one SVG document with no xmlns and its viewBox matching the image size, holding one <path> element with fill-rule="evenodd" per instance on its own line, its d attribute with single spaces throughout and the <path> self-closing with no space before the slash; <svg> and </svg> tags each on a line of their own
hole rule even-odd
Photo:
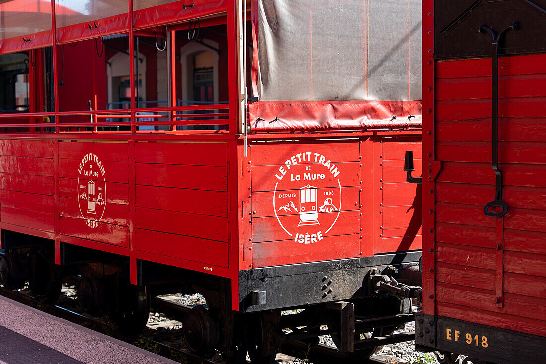
<svg viewBox="0 0 546 364">
<path fill-rule="evenodd" d="M 502 200 L 502 172 L 498 169 L 498 45 L 509 30 L 519 30 L 519 22 L 514 21 L 506 26 L 500 33 L 496 33 L 491 27 L 482 25 L 480 33 L 489 33 L 491 36 L 491 73 L 492 73 L 492 100 L 491 100 L 491 166 L 495 172 L 495 199 L 488 202 L 483 212 L 485 215 L 501 217 L 506 214 L 508 205 Z M 501 212 L 490 211 L 491 207 L 502 208 Z"/>
</svg>

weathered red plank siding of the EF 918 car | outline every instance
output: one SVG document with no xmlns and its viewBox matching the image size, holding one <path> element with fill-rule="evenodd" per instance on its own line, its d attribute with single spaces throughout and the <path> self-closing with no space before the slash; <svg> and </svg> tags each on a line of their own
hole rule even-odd
<svg viewBox="0 0 546 364">
<path fill-rule="evenodd" d="M 436 63 L 436 313 L 546 336 L 546 55 L 502 57 L 503 303 L 496 304 L 490 58 Z M 428 208 L 428 207 L 427 207 Z"/>
</svg>

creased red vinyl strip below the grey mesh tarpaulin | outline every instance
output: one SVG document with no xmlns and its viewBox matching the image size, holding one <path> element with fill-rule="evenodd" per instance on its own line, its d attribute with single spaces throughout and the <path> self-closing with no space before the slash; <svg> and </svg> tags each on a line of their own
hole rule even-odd
<svg viewBox="0 0 546 364">
<path fill-rule="evenodd" d="M 253 130 L 420 127 L 420 101 L 260 101 L 248 105 Z M 396 116 L 396 118 L 393 118 Z"/>
</svg>

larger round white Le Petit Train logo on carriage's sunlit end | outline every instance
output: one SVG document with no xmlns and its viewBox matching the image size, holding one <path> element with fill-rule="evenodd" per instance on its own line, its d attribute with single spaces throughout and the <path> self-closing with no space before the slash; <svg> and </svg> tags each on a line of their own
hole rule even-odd
<svg viewBox="0 0 546 364">
<path fill-rule="evenodd" d="M 294 242 L 311 244 L 331 233 L 341 209 L 340 171 L 325 156 L 296 154 L 275 174 L 277 221 Z"/>
</svg>

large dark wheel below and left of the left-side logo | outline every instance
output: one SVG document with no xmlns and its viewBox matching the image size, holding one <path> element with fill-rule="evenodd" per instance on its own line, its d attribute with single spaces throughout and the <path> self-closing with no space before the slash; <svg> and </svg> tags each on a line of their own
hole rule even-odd
<svg viewBox="0 0 546 364">
<path fill-rule="evenodd" d="M 55 304 L 61 295 L 62 277 L 46 250 L 33 249 L 29 253 L 28 286 L 37 300 Z"/>
</svg>

